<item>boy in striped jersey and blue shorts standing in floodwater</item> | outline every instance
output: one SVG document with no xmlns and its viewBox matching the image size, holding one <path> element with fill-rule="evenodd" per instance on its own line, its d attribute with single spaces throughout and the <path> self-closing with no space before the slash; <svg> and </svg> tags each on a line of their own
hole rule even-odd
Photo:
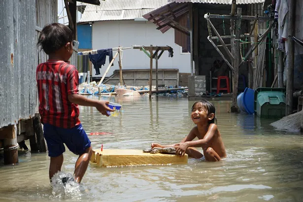
<svg viewBox="0 0 303 202">
<path fill-rule="evenodd" d="M 67 26 L 59 23 L 45 26 L 39 35 L 38 45 L 49 58 L 36 69 L 39 113 L 50 156 L 49 178 L 51 180 L 61 170 L 65 143 L 71 152 L 79 155 L 74 180 L 80 183 L 91 159 L 92 147 L 78 118 L 78 104 L 94 106 L 106 116 L 107 110 L 113 110 L 106 105 L 109 101 L 90 100 L 78 94 L 78 71 L 68 63 L 73 52 L 73 40 Z"/>
</svg>

